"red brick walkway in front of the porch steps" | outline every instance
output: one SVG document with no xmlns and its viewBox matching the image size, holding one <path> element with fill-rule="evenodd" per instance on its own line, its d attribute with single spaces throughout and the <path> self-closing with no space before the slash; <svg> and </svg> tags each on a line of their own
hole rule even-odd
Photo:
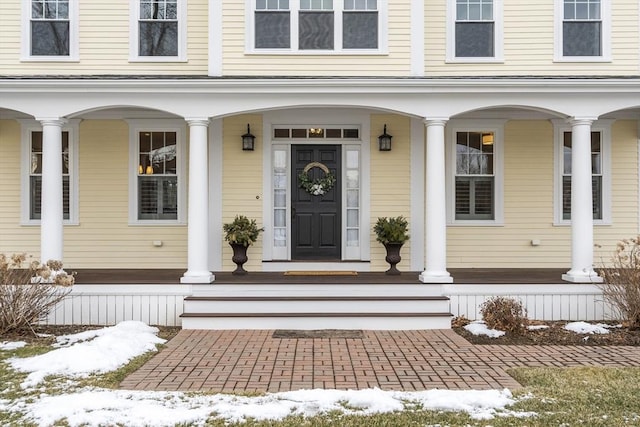
<svg viewBox="0 0 640 427">
<path fill-rule="evenodd" d="M 516 389 L 518 366 L 640 366 L 640 347 L 472 345 L 451 330 L 362 338 L 272 338 L 274 331 L 183 330 L 121 384 L 208 392 L 312 388 Z"/>
</svg>

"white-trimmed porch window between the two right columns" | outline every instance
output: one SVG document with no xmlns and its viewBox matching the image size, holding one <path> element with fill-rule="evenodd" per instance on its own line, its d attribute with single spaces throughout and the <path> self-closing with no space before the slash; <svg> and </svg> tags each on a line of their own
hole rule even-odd
<svg viewBox="0 0 640 427">
<path fill-rule="evenodd" d="M 502 224 L 503 126 L 500 120 L 455 120 L 447 125 L 450 224 Z"/>
</svg>

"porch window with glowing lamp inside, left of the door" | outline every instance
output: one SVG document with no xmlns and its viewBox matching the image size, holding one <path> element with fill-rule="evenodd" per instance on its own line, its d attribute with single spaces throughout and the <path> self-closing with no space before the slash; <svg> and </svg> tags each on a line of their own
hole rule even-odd
<svg viewBox="0 0 640 427">
<path fill-rule="evenodd" d="M 185 170 L 182 126 L 131 121 L 130 221 L 165 224 L 182 221 Z"/>
</svg>

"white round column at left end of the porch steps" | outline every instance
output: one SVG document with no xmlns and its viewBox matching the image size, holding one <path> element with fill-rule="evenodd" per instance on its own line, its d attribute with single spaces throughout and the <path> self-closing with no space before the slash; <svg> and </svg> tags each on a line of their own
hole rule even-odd
<svg viewBox="0 0 640 427">
<path fill-rule="evenodd" d="M 189 124 L 189 214 L 187 271 L 180 283 L 211 283 L 209 258 L 209 174 L 207 155 L 208 119 L 187 119 Z"/>
</svg>

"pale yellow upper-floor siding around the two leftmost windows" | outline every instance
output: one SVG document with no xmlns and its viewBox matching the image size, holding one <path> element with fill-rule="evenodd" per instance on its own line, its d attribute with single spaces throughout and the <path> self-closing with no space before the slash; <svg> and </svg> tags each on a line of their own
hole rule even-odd
<svg viewBox="0 0 640 427">
<path fill-rule="evenodd" d="M 207 74 L 208 1 L 189 0 L 188 62 L 129 62 L 129 3 L 82 1 L 79 62 L 21 62 L 20 2 L 0 2 L 0 69 L 4 74 Z"/>
</svg>

